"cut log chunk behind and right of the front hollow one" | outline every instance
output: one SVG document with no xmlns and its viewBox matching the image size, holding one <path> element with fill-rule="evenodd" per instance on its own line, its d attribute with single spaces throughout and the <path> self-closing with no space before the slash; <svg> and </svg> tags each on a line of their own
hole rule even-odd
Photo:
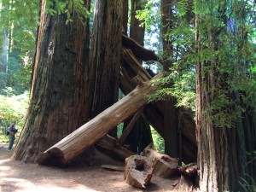
<svg viewBox="0 0 256 192">
<path fill-rule="evenodd" d="M 146 149 L 144 155 L 152 160 L 154 165 L 153 174 L 158 177 L 171 177 L 177 174 L 178 162 L 167 154 L 160 154 L 153 149 Z"/>
</svg>

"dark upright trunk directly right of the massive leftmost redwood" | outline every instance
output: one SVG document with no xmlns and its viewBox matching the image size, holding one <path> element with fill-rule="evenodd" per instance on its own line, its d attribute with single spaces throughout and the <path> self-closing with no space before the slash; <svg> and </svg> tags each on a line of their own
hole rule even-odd
<svg viewBox="0 0 256 192">
<path fill-rule="evenodd" d="M 96 0 L 90 51 L 90 119 L 118 101 L 123 3 Z M 99 11 L 101 10 L 101 11 Z M 117 136 L 116 129 L 111 131 Z"/>
</svg>

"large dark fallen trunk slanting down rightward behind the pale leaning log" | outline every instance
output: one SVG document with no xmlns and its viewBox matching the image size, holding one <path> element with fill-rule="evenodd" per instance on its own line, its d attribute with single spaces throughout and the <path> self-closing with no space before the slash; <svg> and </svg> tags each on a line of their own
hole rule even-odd
<svg viewBox="0 0 256 192">
<path fill-rule="evenodd" d="M 151 79 L 131 49 L 122 49 L 122 60 L 119 87 L 125 94 L 133 90 L 139 82 Z M 164 106 L 165 101 L 151 102 L 143 109 L 143 116 L 160 133 L 160 136 L 165 138 Z M 178 108 L 177 117 L 182 131 L 182 160 L 184 163 L 195 162 L 197 160 L 195 120 L 191 111 L 185 108 Z"/>
</svg>

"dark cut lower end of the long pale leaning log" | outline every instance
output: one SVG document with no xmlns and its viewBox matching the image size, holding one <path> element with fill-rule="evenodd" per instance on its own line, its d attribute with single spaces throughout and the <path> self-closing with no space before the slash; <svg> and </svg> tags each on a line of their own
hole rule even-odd
<svg viewBox="0 0 256 192">
<path fill-rule="evenodd" d="M 59 148 L 50 148 L 47 151 L 44 151 L 43 154 L 40 154 L 38 157 L 38 165 L 44 166 L 66 166 L 64 162 L 64 155 Z"/>
</svg>

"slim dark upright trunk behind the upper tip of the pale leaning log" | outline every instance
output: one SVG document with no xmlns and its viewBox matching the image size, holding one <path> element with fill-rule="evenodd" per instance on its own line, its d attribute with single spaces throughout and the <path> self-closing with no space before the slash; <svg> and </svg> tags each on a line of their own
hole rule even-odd
<svg viewBox="0 0 256 192">
<path fill-rule="evenodd" d="M 167 32 L 173 29 L 173 17 L 172 17 L 172 1 L 161 1 L 161 13 L 162 13 L 162 37 L 165 37 Z M 170 72 L 169 67 L 172 67 L 172 36 L 163 38 L 163 69 L 166 73 Z M 170 59 L 171 58 L 171 59 Z M 172 86 L 168 84 L 166 86 Z M 177 109 L 175 107 L 175 99 L 167 99 L 165 105 L 165 117 L 164 117 L 164 130 L 165 130 L 165 152 L 171 157 L 177 158 Z"/>
</svg>

